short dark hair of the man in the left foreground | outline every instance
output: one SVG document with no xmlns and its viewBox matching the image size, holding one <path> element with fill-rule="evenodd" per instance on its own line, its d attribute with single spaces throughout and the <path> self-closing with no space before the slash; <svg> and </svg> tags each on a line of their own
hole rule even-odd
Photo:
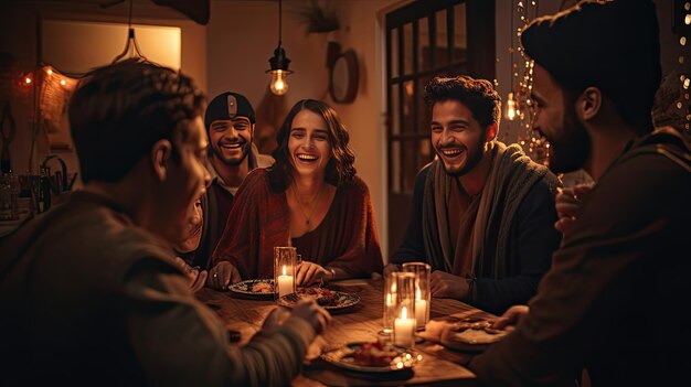
<svg viewBox="0 0 691 387">
<path fill-rule="evenodd" d="M 204 100 L 190 77 L 141 58 L 89 72 L 68 107 L 84 183 L 119 182 L 161 139 L 171 141 L 178 162 L 177 146 Z"/>
</svg>

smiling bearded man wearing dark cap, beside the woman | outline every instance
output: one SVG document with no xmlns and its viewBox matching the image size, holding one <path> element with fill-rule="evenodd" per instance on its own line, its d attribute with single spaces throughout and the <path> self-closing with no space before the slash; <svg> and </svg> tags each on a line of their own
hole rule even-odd
<svg viewBox="0 0 691 387">
<path fill-rule="evenodd" d="M 270 155 L 259 154 L 252 142 L 255 122 L 254 109 L 241 94 L 222 93 L 206 106 L 206 168 L 211 173 L 211 184 L 202 196 L 202 240 L 196 250 L 184 257 L 190 266 L 209 269 L 209 258 L 223 234 L 240 184 L 253 169 L 274 163 Z M 217 276 L 209 276 L 208 281 L 217 279 Z"/>
</svg>

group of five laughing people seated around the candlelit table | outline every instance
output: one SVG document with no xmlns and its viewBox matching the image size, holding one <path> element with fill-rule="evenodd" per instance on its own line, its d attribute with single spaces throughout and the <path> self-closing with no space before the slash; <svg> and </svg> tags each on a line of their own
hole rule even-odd
<svg viewBox="0 0 691 387">
<path fill-rule="evenodd" d="M 626 20 L 626 23 L 619 21 Z M 497 140 L 492 84 L 425 87 L 436 158 L 384 267 L 349 133 L 298 101 L 273 157 L 254 110 L 179 72 L 129 60 L 93 71 L 70 103 L 84 186 L 0 248 L 2 378 L 105 385 L 285 385 L 331 316 L 276 308 L 244 346 L 194 298 L 273 278 L 273 248 L 302 257 L 299 286 L 432 266 L 433 297 L 500 314 L 512 332 L 468 367 L 489 385 L 665 385 L 689 364 L 684 257 L 691 141 L 653 128 L 659 26 L 650 0 L 582 2 L 521 34 L 534 61 L 533 128 L 550 171 Z M 584 169 L 593 186 L 554 173 Z M 400 211 L 395 208 L 394 211 Z M 177 259 L 177 262 L 176 262 Z M 688 315 L 688 314 L 683 314 Z"/>
</svg>

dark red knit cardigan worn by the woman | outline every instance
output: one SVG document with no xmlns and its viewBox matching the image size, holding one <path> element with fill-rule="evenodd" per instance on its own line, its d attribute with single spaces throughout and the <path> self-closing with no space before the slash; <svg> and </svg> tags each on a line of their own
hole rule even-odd
<svg viewBox="0 0 691 387">
<path fill-rule="evenodd" d="M 273 192 L 265 169 L 243 181 L 213 255 L 233 264 L 244 279 L 274 278 L 274 247 L 291 246 L 285 192 Z M 299 240 L 298 240 L 299 239 Z M 323 221 L 296 239 L 304 260 L 339 268 L 350 277 L 382 271 L 382 252 L 370 193 L 358 176 L 341 183 Z"/>
</svg>

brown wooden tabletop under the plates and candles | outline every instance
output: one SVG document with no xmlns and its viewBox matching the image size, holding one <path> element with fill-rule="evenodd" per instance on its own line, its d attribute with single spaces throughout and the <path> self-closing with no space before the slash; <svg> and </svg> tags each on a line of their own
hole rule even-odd
<svg viewBox="0 0 691 387">
<path fill-rule="evenodd" d="M 372 375 L 348 372 L 321 361 L 322 351 L 337 348 L 350 342 L 376 341 L 382 330 L 383 281 L 346 280 L 329 284 L 330 289 L 360 295 L 359 304 L 333 314 L 331 326 L 318 336 L 309 348 L 302 374 L 293 386 L 400 386 L 400 385 L 475 385 L 475 375 L 466 367 L 472 354 L 447 350 L 444 346 L 423 341 L 415 348 L 424 359 L 412 372 Z M 202 289 L 198 298 L 211 307 L 225 321 L 228 330 L 241 332 L 240 345 L 245 344 L 262 327 L 268 312 L 276 308 L 273 300 L 246 299 L 232 292 L 217 292 Z M 477 315 L 496 318 L 474 307 L 456 300 L 433 299 L 430 318 L 434 320 Z"/>
</svg>

